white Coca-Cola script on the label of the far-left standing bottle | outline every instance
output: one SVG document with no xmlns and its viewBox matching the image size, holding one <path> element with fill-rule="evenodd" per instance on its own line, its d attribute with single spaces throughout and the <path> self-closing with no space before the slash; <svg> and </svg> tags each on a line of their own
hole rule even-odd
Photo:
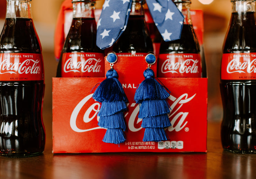
<svg viewBox="0 0 256 179">
<path fill-rule="evenodd" d="M 40 74 L 40 61 L 33 59 L 26 59 L 24 62 L 10 62 L 5 59 L 0 63 L 0 74 Z"/>
</svg>

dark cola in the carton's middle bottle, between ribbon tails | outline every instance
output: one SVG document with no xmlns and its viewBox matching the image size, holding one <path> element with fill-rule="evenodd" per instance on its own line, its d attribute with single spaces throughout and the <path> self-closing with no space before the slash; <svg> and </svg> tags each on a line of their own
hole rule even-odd
<svg viewBox="0 0 256 179">
<path fill-rule="evenodd" d="M 129 16 L 127 27 L 113 45 L 113 51 L 116 53 L 148 53 L 153 51 L 152 40 L 148 34 L 144 16 Z"/>
</svg>

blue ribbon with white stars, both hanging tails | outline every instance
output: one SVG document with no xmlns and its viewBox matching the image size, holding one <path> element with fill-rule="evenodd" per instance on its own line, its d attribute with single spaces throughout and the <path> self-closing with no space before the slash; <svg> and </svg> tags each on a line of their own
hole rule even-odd
<svg viewBox="0 0 256 179">
<path fill-rule="evenodd" d="M 105 0 L 97 24 L 99 48 L 112 46 L 124 32 L 132 0 Z M 180 39 L 184 17 L 172 0 L 147 0 L 149 11 L 165 41 Z"/>
</svg>

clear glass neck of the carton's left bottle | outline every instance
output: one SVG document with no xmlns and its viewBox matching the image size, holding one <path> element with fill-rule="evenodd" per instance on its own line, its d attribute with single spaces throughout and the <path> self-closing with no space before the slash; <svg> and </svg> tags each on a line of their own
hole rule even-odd
<svg viewBox="0 0 256 179">
<path fill-rule="evenodd" d="M 73 18 L 94 18 L 94 3 L 90 1 L 73 2 Z"/>
</svg>

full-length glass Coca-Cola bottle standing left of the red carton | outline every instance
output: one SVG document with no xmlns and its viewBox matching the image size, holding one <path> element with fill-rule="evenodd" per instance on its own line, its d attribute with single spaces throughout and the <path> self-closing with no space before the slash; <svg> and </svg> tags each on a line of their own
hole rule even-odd
<svg viewBox="0 0 256 179">
<path fill-rule="evenodd" d="M 0 38 L 0 154 L 42 153 L 44 65 L 30 0 L 7 0 Z"/>
</svg>

